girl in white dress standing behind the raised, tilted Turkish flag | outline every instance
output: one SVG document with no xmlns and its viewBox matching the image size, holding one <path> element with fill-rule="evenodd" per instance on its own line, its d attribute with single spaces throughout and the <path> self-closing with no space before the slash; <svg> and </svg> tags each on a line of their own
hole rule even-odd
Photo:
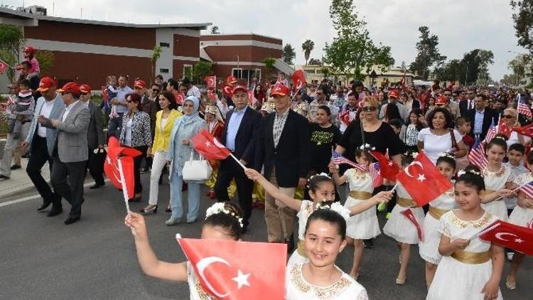
<svg viewBox="0 0 533 300">
<path fill-rule="evenodd" d="M 402 157 L 403 168 L 409 166 L 414 160 L 414 157 L 416 157 L 416 152 L 408 151 L 404 154 Z M 416 206 L 411 195 L 405 191 L 402 183 L 398 183 L 396 193 L 398 196 L 396 205 L 394 205 L 391 216 L 383 227 L 383 233 L 398 242 L 400 268 L 396 277 L 396 284 L 402 285 L 405 284 L 407 279 L 407 265 L 409 264 L 409 257 L 411 257 L 411 245 L 419 243 L 419 235 L 415 225 L 405 215 L 402 215 L 402 212 L 404 210 L 411 210 L 416 222 L 419 223 L 422 229 L 424 228 L 424 210 Z"/>
</svg>

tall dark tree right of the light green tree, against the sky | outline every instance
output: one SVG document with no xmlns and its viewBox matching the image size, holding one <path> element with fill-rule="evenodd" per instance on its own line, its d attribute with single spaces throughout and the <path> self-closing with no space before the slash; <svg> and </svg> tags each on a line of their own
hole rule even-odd
<svg viewBox="0 0 533 300">
<path fill-rule="evenodd" d="M 438 36 L 431 35 L 427 26 L 420 26 L 420 41 L 416 43 L 418 52 L 414 62 L 409 65 L 409 70 L 416 75 L 428 80 L 429 68 L 433 65 L 441 65 L 446 56 L 438 52 Z"/>
</svg>

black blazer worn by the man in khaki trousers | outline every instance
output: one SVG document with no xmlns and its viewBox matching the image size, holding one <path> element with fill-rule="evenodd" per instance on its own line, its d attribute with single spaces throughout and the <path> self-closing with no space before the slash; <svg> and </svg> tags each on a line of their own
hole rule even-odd
<svg viewBox="0 0 533 300">
<path fill-rule="evenodd" d="M 282 188 L 298 186 L 298 178 L 306 178 L 309 169 L 310 147 L 309 123 L 305 117 L 289 109 L 279 143 L 274 148 L 274 118 L 276 112 L 264 117 L 257 136 L 257 171 L 264 164 L 264 177 L 269 179 L 276 168 L 276 181 Z"/>
</svg>

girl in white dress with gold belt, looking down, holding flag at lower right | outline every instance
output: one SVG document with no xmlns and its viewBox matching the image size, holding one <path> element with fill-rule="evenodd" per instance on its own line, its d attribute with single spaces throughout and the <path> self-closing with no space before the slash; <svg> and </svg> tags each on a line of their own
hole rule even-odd
<svg viewBox="0 0 533 300">
<path fill-rule="evenodd" d="M 502 299 L 503 248 L 475 237 L 497 220 L 481 208 L 484 190 L 478 168 L 469 166 L 460 173 L 454 191 L 459 209 L 448 211 L 440 220 L 438 252 L 443 257 L 427 300 Z"/>
</svg>

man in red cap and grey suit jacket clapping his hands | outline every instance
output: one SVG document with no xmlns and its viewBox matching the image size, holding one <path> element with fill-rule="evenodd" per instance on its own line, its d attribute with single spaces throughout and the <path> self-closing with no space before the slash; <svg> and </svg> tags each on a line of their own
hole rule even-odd
<svg viewBox="0 0 533 300">
<path fill-rule="evenodd" d="M 83 178 L 89 156 L 87 149 L 87 127 L 91 119 L 89 109 L 80 102 L 80 87 L 68 82 L 58 90 L 63 97 L 65 109 L 58 119 L 39 117 L 45 127 L 58 132 L 53 150 L 52 186 L 72 205 L 65 225 L 80 220 L 83 202 Z M 61 200 L 53 202 L 52 210 L 63 211 Z"/>
</svg>

